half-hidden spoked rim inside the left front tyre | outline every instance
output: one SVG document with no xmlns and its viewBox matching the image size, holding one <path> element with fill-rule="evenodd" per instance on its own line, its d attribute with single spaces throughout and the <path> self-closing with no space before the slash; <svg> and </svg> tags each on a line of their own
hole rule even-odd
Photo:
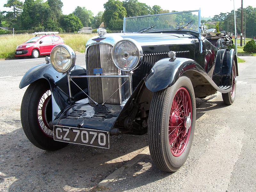
<svg viewBox="0 0 256 192">
<path fill-rule="evenodd" d="M 41 131 L 53 138 L 53 130 L 49 126 L 52 119 L 52 94 L 50 90 L 44 91 L 37 104 L 37 120 Z"/>
</svg>

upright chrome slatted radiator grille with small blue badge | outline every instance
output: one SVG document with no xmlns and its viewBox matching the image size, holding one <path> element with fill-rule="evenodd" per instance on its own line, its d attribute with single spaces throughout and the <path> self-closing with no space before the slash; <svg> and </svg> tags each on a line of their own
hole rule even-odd
<svg viewBox="0 0 256 192">
<path fill-rule="evenodd" d="M 95 75 L 93 69 L 102 68 L 102 75 L 121 75 L 111 59 L 111 52 L 112 45 L 109 44 L 94 44 L 88 47 L 86 52 L 87 74 Z M 116 91 L 120 85 L 121 78 L 88 78 L 89 96 L 100 104 L 108 100 L 106 104 L 120 105 L 121 92 L 120 89 Z M 91 99 L 90 104 L 95 105 Z"/>
</svg>

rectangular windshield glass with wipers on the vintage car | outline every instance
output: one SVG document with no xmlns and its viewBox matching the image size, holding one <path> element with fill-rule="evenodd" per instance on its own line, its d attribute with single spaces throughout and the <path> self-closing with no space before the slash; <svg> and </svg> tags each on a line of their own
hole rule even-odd
<svg viewBox="0 0 256 192">
<path fill-rule="evenodd" d="M 157 29 L 189 29 L 198 32 L 198 22 L 200 22 L 200 20 L 198 21 L 200 15 L 199 11 L 200 10 L 128 17 L 124 20 L 124 32 L 134 33 Z"/>
</svg>

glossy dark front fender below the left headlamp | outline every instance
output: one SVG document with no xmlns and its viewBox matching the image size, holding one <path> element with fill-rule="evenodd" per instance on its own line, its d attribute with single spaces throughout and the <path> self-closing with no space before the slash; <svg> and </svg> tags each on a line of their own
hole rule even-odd
<svg viewBox="0 0 256 192">
<path fill-rule="evenodd" d="M 86 73 L 84 68 L 75 65 L 71 70 L 71 74 L 76 75 Z M 20 81 L 20 89 L 37 81 L 45 79 L 50 84 L 52 92 L 52 121 L 58 113 L 69 104 L 67 75 L 57 72 L 51 64 L 39 64 L 29 69 Z M 44 81 L 42 81 L 44 83 Z M 65 83 L 65 84 L 64 84 Z M 87 84 L 86 84 L 87 85 Z M 73 95 L 72 95 L 73 96 Z M 79 98 L 80 95 L 77 94 Z M 76 100 L 76 99 L 75 99 Z"/>
</svg>

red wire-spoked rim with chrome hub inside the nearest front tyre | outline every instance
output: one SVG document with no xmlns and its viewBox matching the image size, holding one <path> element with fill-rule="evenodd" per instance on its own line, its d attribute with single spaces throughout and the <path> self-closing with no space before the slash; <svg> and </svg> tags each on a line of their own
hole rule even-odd
<svg viewBox="0 0 256 192">
<path fill-rule="evenodd" d="M 169 144 L 173 156 L 180 156 L 188 143 L 191 108 L 188 91 L 181 87 L 173 98 L 169 118 Z"/>
</svg>

